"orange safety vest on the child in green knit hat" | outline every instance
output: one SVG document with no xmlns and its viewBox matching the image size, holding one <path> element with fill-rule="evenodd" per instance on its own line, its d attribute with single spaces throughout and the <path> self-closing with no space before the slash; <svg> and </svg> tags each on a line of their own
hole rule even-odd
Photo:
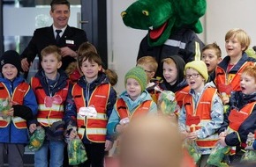
<svg viewBox="0 0 256 167">
<path fill-rule="evenodd" d="M 141 105 L 139 105 L 135 109 L 135 111 L 131 115 L 131 113 L 128 111 L 128 108 L 124 102 L 124 99 L 118 98 L 117 105 L 116 105 L 117 114 L 118 114 L 120 120 L 127 118 L 127 117 L 132 119 L 133 117 L 137 117 L 141 114 L 147 114 L 149 112 L 152 102 L 153 102 L 152 100 L 144 101 Z"/>
</svg>

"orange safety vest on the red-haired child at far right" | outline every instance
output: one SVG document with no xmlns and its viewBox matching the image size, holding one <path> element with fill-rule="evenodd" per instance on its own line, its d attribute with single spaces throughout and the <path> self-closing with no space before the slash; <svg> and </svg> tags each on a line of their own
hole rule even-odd
<svg viewBox="0 0 256 167">
<path fill-rule="evenodd" d="M 228 127 L 229 133 L 232 133 L 232 132 L 238 133 L 237 131 L 239 127 L 251 115 L 254 105 L 256 105 L 256 103 L 249 103 L 245 105 L 240 111 L 237 111 L 236 109 L 233 109 L 230 111 L 230 115 L 229 115 L 230 124 Z M 246 144 L 241 143 L 241 146 L 245 148 Z M 236 149 L 231 149 L 231 155 L 235 154 L 235 152 L 236 152 Z"/>
</svg>

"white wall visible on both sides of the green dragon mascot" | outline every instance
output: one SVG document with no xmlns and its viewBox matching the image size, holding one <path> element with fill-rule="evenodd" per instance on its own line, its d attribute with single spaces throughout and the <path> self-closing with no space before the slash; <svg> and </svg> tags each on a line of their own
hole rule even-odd
<svg viewBox="0 0 256 167">
<path fill-rule="evenodd" d="M 122 21 L 120 13 L 133 2 L 135 0 L 108 1 L 109 67 L 117 70 L 117 91 L 124 91 L 124 75 L 135 65 L 139 42 L 147 33 L 126 27 Z M 255 0 L 207 0 L 207 13 L 200 19 L 204 26 L 204 32 L 199 34 L 200 39 L 206 44 L 217 42 L 222 48 L 222 56 L 225 56 L 225 33 L 238 27 L 251 36 L 251 46 L 256 45 L 255 7 Z"/>
</svg>

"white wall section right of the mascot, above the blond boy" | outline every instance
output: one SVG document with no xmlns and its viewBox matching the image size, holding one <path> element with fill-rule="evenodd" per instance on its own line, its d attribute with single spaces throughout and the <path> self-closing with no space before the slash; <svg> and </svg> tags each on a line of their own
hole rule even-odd
<svg viewBox="0 0 256 167">
<path fill-rule="evenodd" d="M 206 43 L 217 42 L 226 55 L 225 34 L 232 28 L 242 28 L 256 45 L 255 0 L 207 0 L 205 25 Z"/>
</svg>

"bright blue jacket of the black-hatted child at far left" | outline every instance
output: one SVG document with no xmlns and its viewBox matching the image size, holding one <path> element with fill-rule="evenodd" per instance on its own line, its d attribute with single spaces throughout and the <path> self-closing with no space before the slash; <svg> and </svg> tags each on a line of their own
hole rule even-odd
<svg viewBox="0 0 256 167">
<path fill-rule="evenodd" d="M 12 92 L 14 89 L 21 83 L 25 82 L 22 77 L 16 77 L 13 82 L 10 80 L 7 80 L 3 77 L 0 77 L 0 82 L 5 85 L 5 87 L 8 89 L 10 95 L 12 96 Z M 34 96 L 34 92 L 32 89 L 29 88 L 29 91 L 27 91 L 26 96 L 24 97 L 23 105 L 26 107 L 29 107 L 32 111 L 32 114 L 35 116 L 37 114 L 37 103 L 36 98 Z M 14 108 L 14 106 L 13 106 Z M 20 109 L 19 112 L 22 112 Z M 14 109 L 14 115 L 15 115 L 15 109 Z M 18 129 L 14 126 L 14 124 L 11 122 L 7 127 L 0 128 L 0 142 L 4 143 L 28 143 L 28 129 Z"/>
</svg>

